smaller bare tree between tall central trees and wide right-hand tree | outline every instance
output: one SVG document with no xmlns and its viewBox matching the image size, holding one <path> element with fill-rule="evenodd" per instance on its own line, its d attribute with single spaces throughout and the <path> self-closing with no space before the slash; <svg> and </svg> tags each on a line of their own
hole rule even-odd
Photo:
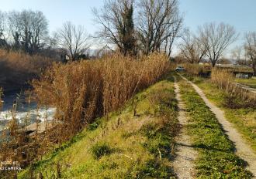
<svg viewBox="0 0 256 179">
<path fill-rule="evenodd" d="M 199 63 L 206 54 L 205 46 L 202 46 L 202 43 L 188 29 L 182 35 L 182 43 L 179 47 L 182 55 L 190 63 Z"/>
</svg>

